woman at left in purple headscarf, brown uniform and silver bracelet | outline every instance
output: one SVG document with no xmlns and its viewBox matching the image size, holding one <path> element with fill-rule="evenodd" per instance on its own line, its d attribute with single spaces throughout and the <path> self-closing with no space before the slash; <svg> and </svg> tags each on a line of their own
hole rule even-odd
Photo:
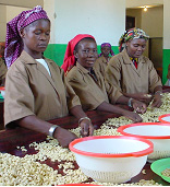
<svg viewBox="0 0 170 187">
<path fill-rule="evenodd" d="M 47 120 L 73 114 L 83 136 L 94 127 L 63 70 L 42 56 L 50 39 L 50 21 L 40 5 L 23 11 L 7 25 L 4 125 L 14 124 L 58 139 L 62 147 L 77 138 Z M 15 40 L 14 40 L 15 39 Z M 12 65 L 13 63 L 13 65 Z M 12 66 L 11 66 L 12 65 Z"/>
</svg>

